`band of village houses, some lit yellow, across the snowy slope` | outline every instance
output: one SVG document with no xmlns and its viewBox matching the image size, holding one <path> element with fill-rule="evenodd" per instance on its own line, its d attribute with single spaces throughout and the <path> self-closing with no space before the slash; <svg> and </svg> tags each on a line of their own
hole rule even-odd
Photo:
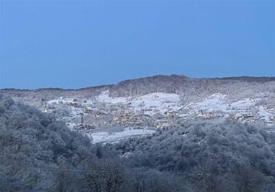
<svg viewBox="0 0 275 192">
<path fill-rule="evenodd" d="M 181 122 L 186 116 L 182 116 L 184 111 L 165 111 L 164 113 L 155 113 L 148 115 L 146 111 L 133 111 L 125 106 L 112 105 L 106 106 L 101 105 L 100 103 L 91 103 L 83 99 L 67 99 L 56 100 L 52 103 L 47 103 L 45 105 L 44 111 L 47 112 L 51 109 L 54 109 L 57 105 L 72 106 L 76 111 L 81 111 L 70 116 L 72 122 L 78 118 L 75 128 L 81 131 L 91 131 L 97 127 L 102 126 L 113 126 L 113 125 L 122 125 L 123 127 L 130 126 L 145 126 L 145 127 L 156 127 L 164 128 L 169 125 L 177 125 L 178 122 Z M 112 109 L 111 109 L 112 107 Z M 274 110 L 270 109 L 270 113 Z M 255 111 L 254 111 L 255 113 Z M 245 120 L 245 121 L 255 121 L 255 114 L 252 113 L 252 109 L 249 107 L 231 107 L 226 109 L 226 111 L 203 111 L 199 110 L 195 114 L 191 114 L 192 118 L 202 118 L 206 120 L 214 118 L 230 118 L 232 120 Z M 89 122 L 83 122 L 83 116 L 89 118 Z M 81 118 L 81 122 L 79 120 Z M 261 117 L 260 117 L 261 119 Z M 275 123 L 275 114 L 270 116 L 270 122 Z M 91 125 L 92 124 L 92 125 Z"/>
</svg>

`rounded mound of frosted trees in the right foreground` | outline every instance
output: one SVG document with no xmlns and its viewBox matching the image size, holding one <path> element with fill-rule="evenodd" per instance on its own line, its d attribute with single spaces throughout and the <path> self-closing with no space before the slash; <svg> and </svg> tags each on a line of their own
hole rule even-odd
<svg viewBox="0 0 275 192">
<path fill-rule="evenodd" d="M 264 125 L 186 122 L 114 149 L 130 167 L 181 173 L 189 191 L 275 189 L 275 135 Z"/>
</svg>

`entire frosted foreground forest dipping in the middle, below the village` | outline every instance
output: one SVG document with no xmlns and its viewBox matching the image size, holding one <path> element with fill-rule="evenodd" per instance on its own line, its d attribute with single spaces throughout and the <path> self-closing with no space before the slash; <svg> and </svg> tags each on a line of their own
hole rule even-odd
<svg viewBox="0 0 275 192">
<path fill-rule="evenodd" d="M 92 145 L 50 114 L 0 94 L 0 191 L 274 191 L 263 125 L 186 122 Z"/>
</svg>

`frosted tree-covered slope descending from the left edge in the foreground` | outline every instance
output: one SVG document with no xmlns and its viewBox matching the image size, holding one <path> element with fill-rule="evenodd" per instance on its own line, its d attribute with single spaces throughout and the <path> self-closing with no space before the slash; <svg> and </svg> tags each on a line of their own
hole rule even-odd
<svg viewBox="0 0 275 192">
<path fill-rule="evenodd" d="M 89 182 L 80 182 L 85 178 L 79 170 L 100 159 L 112 169 L 105 157 L 115 162 L 53 116 L 1 94 L 0 153 L 0 191 L 83 191 Z"/>
</svg>

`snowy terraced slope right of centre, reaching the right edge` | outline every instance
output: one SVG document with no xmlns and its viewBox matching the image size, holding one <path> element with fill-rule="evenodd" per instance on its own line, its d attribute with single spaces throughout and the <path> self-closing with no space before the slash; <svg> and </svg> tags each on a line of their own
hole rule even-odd
<svg viewBox="0 0 275 192">
<path fill-rule="evenodd" d="M 200 102 L 190 103 L 183 107 L 188 115 L 197 115 L 207 118 L 214 116 L 250 119 L 253 121 L 263 120 L 272 123 L 274 121 L 274 109 L 267 109 L 263 105 L 256 105 L 260 98 L 243 98 L 241 100 L 230 101 L 226 95 L 212 94 Z M 210 116 L 211 115 L 211 116 Z M 255 117 L 259 116 L 259 117 Z"/>
</svg>

